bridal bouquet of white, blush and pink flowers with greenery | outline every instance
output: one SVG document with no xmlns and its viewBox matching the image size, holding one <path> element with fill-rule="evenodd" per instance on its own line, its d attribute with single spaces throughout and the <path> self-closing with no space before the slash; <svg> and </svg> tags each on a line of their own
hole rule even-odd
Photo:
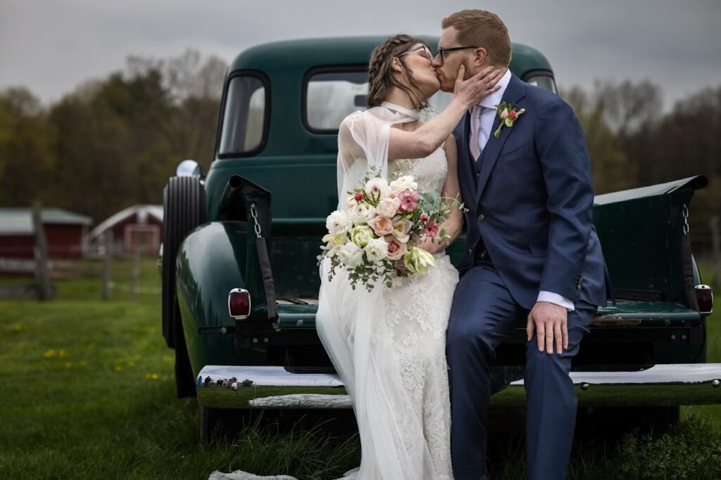
<svg viewBox="0 0 721 480">
<path fill-rule="evenodd" d="M 446 199 L 435 191 L 418 191 L 412 176 L 389 183 L 373 170 L 348 194 L 348 210 L 332 212 L 325 222 L 328 234 L 319 260 L 330 259 L 329 280 L 345 266 L 353 289 L 360 281 L 371 291 L 379 279 L 392 286 L 396 276 L 424 273 L 435 265 L 433 255 L 416 245 L 449 239 L 440 228 L 451 216 Z M 452 207 L 463 206 L 454 199 Z"/>
</svg>

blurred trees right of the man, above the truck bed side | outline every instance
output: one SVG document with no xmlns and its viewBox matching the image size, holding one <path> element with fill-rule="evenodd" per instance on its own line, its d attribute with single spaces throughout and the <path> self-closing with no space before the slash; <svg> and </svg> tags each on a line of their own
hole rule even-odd
<svg viewBox="0 0 721 480">
<path fill-rule="evenodd" d="M 559 94 L 583 127 L 596 194 L 698 174 L 709 178 L 689 215 L 694 253 L 709 254 L 709 222 L 721 214 L 721 85 L 677 101 L 668 112 L 651 81 L 598 81 L 593 89 Z"/>
</svg>

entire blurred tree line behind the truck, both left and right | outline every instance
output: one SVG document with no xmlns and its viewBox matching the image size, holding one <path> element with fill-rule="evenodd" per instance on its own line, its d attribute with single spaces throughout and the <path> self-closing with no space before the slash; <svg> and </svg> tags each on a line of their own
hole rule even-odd
<svg viewBox="0 0 721 480">
<path fill-rule="evenodd" d="M 174 167 L 213 159 L 227 65 L 193 50 L 165 60 L 133 56 L 123 71 L 88 81 L 45 106 L 24 87 L 0 91 L 0 206 L 48 207 L 100 222 L 133 204 L 162 203 Z M 698 253 L 719 214 L 721 85 L 663 112 L 651 81 L 598 81 L 562 89 L 588 145 L 597 194 L 699 173 L 691 231 Z"/>
</svg>

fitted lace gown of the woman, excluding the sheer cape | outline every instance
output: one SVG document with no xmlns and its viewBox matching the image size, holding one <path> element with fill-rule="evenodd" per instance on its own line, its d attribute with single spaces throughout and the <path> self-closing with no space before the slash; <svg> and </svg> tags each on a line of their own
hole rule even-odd
<svg viewBox="0 0 721 480">
<path fill-rule="evenodd" d="M 441 194 L 448 163 L 439 148 L 420 160 L 397 160 L 389 171 L 412 175 L 420 191 Z M 394 279 L 384 292 L 386 326 L 397 353 L 403 386 L 423 425 L 425 442 L 440 479 L 451 479 L 451 404 L 448 398 L 446 327 L 458 272 L 448 255 L 435 255 L 427 273 Z M 405 437 L 404 437 L 405 438 Z"/>
</svg>

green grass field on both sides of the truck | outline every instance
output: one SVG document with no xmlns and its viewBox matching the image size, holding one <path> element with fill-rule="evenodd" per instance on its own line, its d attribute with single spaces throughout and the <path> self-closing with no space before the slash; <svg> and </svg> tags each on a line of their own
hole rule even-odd
<svg viewBox="0 0 721 480">
<path fill-rule="evenodd" d="M 195 399 L 174 392 L 172 350 L 160 327 L 158 274 L 143 261 L 131 302 L 128 261 L 113 264 L 112 299 L 98 266 L 56 281 L 51 302 L 0 301 L 0 479 L 207 479 L 215 470 L 330 479 L 358 464 L 357 437 L 329 429 L 249 427 L 200 445 Z M 8 281 L 8 280 L 4 280 Z M 721 361 L 721 315 L 709 320 L 710 361 Z M 578 440 L 572 479 L 721 476 L 721 411 L 684 408 L 668 433 Z M 522 439 L 492 438 L 492 479 L 523 476 Z"/>
</svg>

